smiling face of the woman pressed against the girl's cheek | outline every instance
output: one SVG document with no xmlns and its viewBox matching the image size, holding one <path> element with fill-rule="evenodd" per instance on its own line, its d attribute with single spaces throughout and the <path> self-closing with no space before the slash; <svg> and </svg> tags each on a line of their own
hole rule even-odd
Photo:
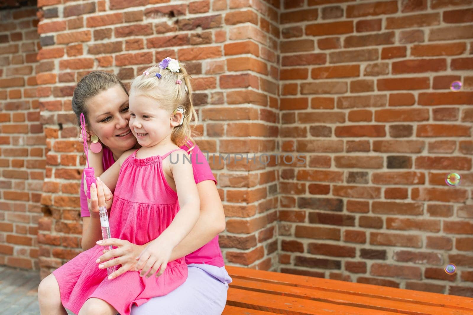
<svg viewBox="0 0 473 315">
<path fill-rule="evenodd" d="M 116 85 L 92 97 L 86 106 L 91 135 L 97 135 L 112 151 L 124 152 L 134 147 L 136 138 L 128 126 L 128 95 L 121 86 Z"/>
</svg>

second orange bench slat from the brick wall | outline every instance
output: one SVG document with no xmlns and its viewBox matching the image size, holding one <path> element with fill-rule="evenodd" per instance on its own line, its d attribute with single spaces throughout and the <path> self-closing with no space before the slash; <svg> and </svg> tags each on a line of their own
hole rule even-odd
<svg viewBox="0 0 473 315">
<path fill-rule="evenodd" d="M 279 296 L 298 297 L 333 303 L 346 306 L 356 306 L 361 308 L 370 308 L 390 312 L 399 312 L 401 314 L 410 315 L 458 315 L 457 309 L 438 306 L 419 305 L 417 303 L 399 302 L 396 300 L 354 296 L 351 294 L 328 292 L 319 289 L 309 289 L 281 284 L 273 284 L 268 282 L 234 279 L 230 283 L 231 288 L 243 289 L 248 291 L 256 291 L 261 293 L 269 293 Z M 462 311 L 464 315 L 473 315 L 473 311 Z"/>
</svg>

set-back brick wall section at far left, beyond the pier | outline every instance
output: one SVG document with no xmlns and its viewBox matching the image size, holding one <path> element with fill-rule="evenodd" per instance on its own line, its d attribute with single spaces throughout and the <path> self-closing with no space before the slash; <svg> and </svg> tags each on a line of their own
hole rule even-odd
<svg viewBox="0 0 473 315">
<path fill-rule="evenodd" d="M 35 6 L 0 11 L 0 264 L 28 269 L 38 268 L 45 167 L 37 22 Z"/>
</svg>

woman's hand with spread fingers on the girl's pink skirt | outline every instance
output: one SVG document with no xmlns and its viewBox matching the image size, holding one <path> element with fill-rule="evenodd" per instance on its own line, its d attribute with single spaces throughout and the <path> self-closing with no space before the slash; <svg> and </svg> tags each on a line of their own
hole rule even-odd
<svg viewBox="0 0 473 315">
<path fill-rule="evenodd" d="M 118 238 L 109 238 L 101 241 L 97 241 L 97 245 L 108 246 L 112 245 L 117 248 L 110 251 L 105 251 L 105 254 L 98 257 L 96 263 L 98 263 L 99 269 L 106 269 L 107 267 L 112 267 L 116 265 L 122 265 L 117 271 L 114 271 L 108 279 L 114 279 L 126 271 L 138 271 L 136 269 L 137 261 L 136 256 L 138 256 L 143 250 L 144 246 L 135 245 L 123 239 Z M 112 260 L 109 260 L 114 258 Z"/>
</svg>

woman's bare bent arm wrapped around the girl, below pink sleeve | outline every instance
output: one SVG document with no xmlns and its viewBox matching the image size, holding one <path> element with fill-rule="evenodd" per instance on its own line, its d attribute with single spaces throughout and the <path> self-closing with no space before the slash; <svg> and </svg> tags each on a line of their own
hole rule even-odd
<svg viewBox="0 0 473 315">
<path fill-rule="evenodd" d="M 191 232 L 174 247 L 169 261 L 198 250 L 225 230 L 225 213 L 215 183 L 211 180 L 200 182 L 197 190 L 201 200 L 199 219 Z"/>
</svg>

